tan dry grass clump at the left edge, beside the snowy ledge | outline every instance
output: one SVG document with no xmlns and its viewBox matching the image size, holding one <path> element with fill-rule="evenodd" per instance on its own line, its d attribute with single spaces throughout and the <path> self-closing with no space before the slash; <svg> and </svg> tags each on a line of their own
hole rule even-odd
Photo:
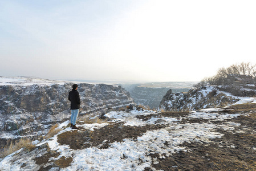
<svg viewBox="0 0 256 171">
<path fill-rule="evenodd" d="M 27 150 L 31 150 L 31 149 L 35 148 L 35 145 L 32 144 L 32 140 L 27 139 L 27 138 L 15 141 L 15 143 L 13 143 L 13 141 L 11 141 L 11 144 L 9 146 L 1 148 L 0 157 L 4 158 L 4 157 L 8 156 L 9 154 L 11 154 L 21 148 L 26 148 Z"/>
</svg>

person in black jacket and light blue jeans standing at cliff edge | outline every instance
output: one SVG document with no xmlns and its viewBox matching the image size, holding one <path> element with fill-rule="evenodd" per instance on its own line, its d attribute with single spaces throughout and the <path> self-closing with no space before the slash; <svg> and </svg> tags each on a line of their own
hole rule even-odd
<svg viewBox="0 0 256 171">
<path fill-rule="evenodd" d="M 78 92 L 78 84 L 74 84 L 72 88 L 72 91 L 68 93 L 68 100 L 71 101 L 71 128 L 78 129 L 78 127 L 76 127 L 76 118 L 78 118 L 78 112 L 81 104 Z"/>
</svg>

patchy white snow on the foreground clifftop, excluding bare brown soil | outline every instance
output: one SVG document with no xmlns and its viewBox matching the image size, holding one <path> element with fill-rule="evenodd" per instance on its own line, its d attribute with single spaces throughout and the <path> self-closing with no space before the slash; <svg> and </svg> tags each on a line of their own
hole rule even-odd
<svg viewBox="0 0 256 171">
<path fill-rule="evenodd" d="M 58 128 L 63 128 L 63 130 L 60 131 L 58 135 L 55 135 L 49 140 L 43 140 L 37 144 L 37 146 L 48 144 L 51 150 L 57 150 L 57 152 L 60 153 L 57 158 L 51 158 L 50 160 L 58 160 L 63 156 L 72 156 L 73 161 L 71 165 L 60 170 L 144 170 L 147 167 L 151 168 L 151 164 L 157 162 L 156 158 L 149 156 L 150 153 L 159 153 L 162 158 L 165 158 L 165 156 L 170 156 L 172 153 L 176 153 L 180 150 L 186 152 L 190 149 L 181 145 L 184 142 L 209 143 L 212 139 L 223 136 L 221 133 L 217 132 L 216 129 L 233 130 L 235 127 L 239 126 L 239 124 L 229 121 L 231 118 L 239 116 L 239 114 L 222 115 L 217 113 L 217 111 L 221 111 L 221 109 L 205 109 L 200 112 L 192 112 L 184 116 L 184 118 L 204 118 L 212 121 L 223 121 L 222 124 L 219 125 L 210 122 L 181 124 L 179 121 L 182 120 L 182 117 L 152 117 L 147 121 L 136 117 L 156 114 L 156 112 L 153 111 L 109 112 L 105 116 L 109 117 L 111 122 L 102 124 L 81 124 L 79 127 L 94 131 L 95 129 L 112 124 L 113 122 L 124 122 L 125 125 L 141 127 L 147 124 L 154 125 L 156 121 L 158 121 L 157 123 L 168 125 L 168 127 L 147 131 L 142 136 L 137 137 L 136 141 L 133 139 L 124 139 L 121 143 L 111 143 L 107 149 L 100 149 L 97 148 L 97 146 L 93 146 L 86 149 L 74 150 L 71 149 L 69 145 L 61 145 L 58 143 L 59 134 L 72 131 L 71 128 L 65 128 L 68 125 L 68 121 L 66 121 L 59 125 Z M 166 141 L 168 141 L 168 146 L 165 144 Z M 5 157 L 0 162 L 0 170 L 36 170 L 36 168 L 38 168 L 38 165 L 35 164 L 31 156 L 22 158 L 22 161 L 16 161 L 14 163 L 13 156 L 18 152 Z M 123 156 L 125 156 L 125 158 Z M 23 163 L 26 163 L 25 168 L 21 168 Z M 173 165 L 173 167 L 176 166 Z M 58 169 L 51 168 L 50 170 Z"/>
</svg>

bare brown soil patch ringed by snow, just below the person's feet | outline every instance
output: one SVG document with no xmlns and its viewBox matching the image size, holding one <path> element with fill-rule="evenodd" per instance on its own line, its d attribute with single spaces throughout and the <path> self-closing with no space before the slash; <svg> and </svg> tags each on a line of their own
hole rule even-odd
<svg viewBox="0 0 256 171">
<path fill-rule="evenodd" d="M 131 127 L 125 126 L 123 123 L 114 123 L 94 131 L 79 129 L 72 132 L 64 132 L 58 135 L 58 143 L 70 145 L 72 149 L 85 149 L 91 146 L 99 146 L 99 148 L 105 149 L 115 141 L 122 142 L 124 139 L 136 141 L 137 137 L 142 136 L 148 130 L 160 128 L 164 128 L 164 126 L 145 125 L 143 127 Z"/>
</svg>

